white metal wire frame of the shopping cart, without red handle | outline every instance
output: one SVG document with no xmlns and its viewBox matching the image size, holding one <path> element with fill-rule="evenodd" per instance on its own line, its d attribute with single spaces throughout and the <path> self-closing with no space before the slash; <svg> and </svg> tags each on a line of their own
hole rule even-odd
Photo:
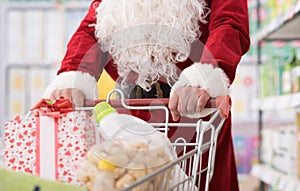
<svg viewBox="0 0 300 191">
<path fill-rule="evenodd" d="M 158 127 L 167 136 L 169 127 L 191 127 L 196 130 L 196 141 L 187 142 L 184 138 L 177 138 L 172 144 L 176 150 L 177 147 L 183 147 L 183 154 L 170 161 L 169 163 L 159 167 L 153 172 L 129 184 L 121 191 L 198 191 L 200 189 L 201 174 L 206 171 L 205 191 L 209 189 L 209 182 L 214 173 L 214 163 L 216 157 L 217 139 L 220 130 L 226 120 L 222 117 L 215 126 L 213 122 L 220 116 L 220 109 L 215 109 L 208 121 L 199 119 L 196 123 L 169 123 L 169 109 L 166 106 L 133 106 L 125 103 L 124 94 L 120 89 L 111 90 L 106 98 L 106 102 L 111 101 L 113 93 L 120 94 L 120 102 L 122 107 L 128 110 L 163 110 L 165 111 L 164 123 L 149 123 L 154 127 Z M 76 110 L 92 110 L 93 107 L 77 107 Z M 162 127 L 163 128 L 159 128 Z M 204 141 L 204 134 L 210 132 L 210 140 Z M 194 149 L 187 152 L 188 146 Z M 202 168 L 202 156 L 208 153 L 207 166 Z M 175 182 L 176 181 L 176 182 Z M 150 184 L 151 183 L 151 184 Z M 197 184 L 197 185 L 196 185 Z M 150 186 L 151 185 L 151 186 Z"/>
</svg>

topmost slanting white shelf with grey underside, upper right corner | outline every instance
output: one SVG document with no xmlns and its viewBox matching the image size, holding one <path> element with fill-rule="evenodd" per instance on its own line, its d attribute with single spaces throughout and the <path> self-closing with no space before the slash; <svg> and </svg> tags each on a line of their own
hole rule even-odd
<svg viewBox="0 0 300 191">
<path fill-rule="evenodd" d="M 257 44 L 262 40 L 295 40 L 300 39 L 300 0 L 284 14 L 273 19 L 252 36 L 251 41 Z"/>
</svg>

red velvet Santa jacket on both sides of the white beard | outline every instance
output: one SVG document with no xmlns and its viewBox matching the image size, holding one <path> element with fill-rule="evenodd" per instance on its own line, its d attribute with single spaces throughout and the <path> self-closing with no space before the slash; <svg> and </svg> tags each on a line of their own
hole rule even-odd
<svg viewBox="0 0 300 191">
<path fill-rule="evenodd" d="M 99 3 L 100 0 L 93 0 L 87 15 L 69 41 L 58 74 L 65 71 L 82 71 L 98 80 L 102 72 L 101 65 L 105 65 L 111 77 L 115 80 L 118 78 L 116 66 L 97 46 L 95 29 L 90 26 L 96 23 L 95 9 Z M 200 24 L 202 35 L 199 39 L 205 44 L 205 49 L 202 51 L 199 44 L 195 44 L 190 59 L 179 63 L 178 67 L 183 70 L 195 61 L 218 64 L 232 83 L 241 56 L 250 46 L 247 0 L 238 3 L 235 0 L 207 0 L 207 3 L 211 13 L 207 18 L 208 23 Z"/>
</svg>

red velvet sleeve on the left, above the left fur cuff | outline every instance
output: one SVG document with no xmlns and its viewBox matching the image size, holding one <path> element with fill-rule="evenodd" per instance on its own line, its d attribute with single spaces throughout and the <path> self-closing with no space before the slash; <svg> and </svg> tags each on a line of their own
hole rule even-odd
<svg viewBox="0 0 300 191">
<path fill-rule="evenodd" d="M 100 77 L 103 68 L 101 61 L 105 55 L 97 45 L 95 28 L 91 26 L 96 23 L 96 8 L 99 3 L 100 0 L 93 0 L 87 15 L 73 34 L 58 74 L 66 71 L 81 71 L 89 73 L 96 80 Z"/>
</svg>

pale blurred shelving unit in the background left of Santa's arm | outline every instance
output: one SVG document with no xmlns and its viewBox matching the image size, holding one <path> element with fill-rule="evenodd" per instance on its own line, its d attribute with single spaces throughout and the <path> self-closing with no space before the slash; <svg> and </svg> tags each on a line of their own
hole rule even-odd
<svg viewBox="0 0 300 191">
<path fill-rule="evenodd" d="M 44 72 L 45 75 L 43 76 L 45 79 L 43 81 L 43 85 L 48 84 L 53 75 L 50 74 L 50 70 L 53 70 L 53 74 L 55 74 L 55 67 L 57 67 L 55 64 L 56 62 L 59 63 L 59 60 L 61 59 L 61 55 L 64 54 L 64 46 L 66 46 L 66 42 L 68 41 L 70 32 L 75 30 L 75 28 L 78 26 L 79 17 L 82 17 L 86 11 L 88 10 L 88 7 L 90 5 L 89 0 L 70 0 L 70 1 L 57 1 L 57 0 L 44 0 L 44 1 L 1 1 L 0 2 L 0 105 L 2 106 L 0 109 L 0 124 L 2 127 L 4 127 L 3 123 L 9 119 L 11 119 L 13 116 L 11 114 L 12 108 L 10 107 L 10 100 L 12 99 L 12 94 L 14 94 L 14 97 L 21 97 L 24 94 L 24 101 L 22 105 L 22 113 L 28 112 L 30 107 L 32 107 L 32 95 L 33 93 L 30 92 L 31 90 L 28 88 L 30 86 L 29 83 L 33 83 L 32 73 L 36 71 Z M 39 23 L 37 23 L 34 27 L 40 29 L 42 32 L 41 35 L 33 37 L 31 35 L 32 39 L 27 38 L 30 32 L 32 30 L 28 29 L 29 24 L 28 23 L 28 12 L 34 12 L 39 13 L 38 18 L 34 18 L 34 20 L 38 20 Z M 12 18 L 12 14 L 19 14 L 18 18 L 21 18 L 22 24 L 16 24 L 12 23 L 9 18 Z M 73 18 L 72 21 L 67 20 L 67 18 L 70 17 L 70 14 L 75 15 L 76 18 Z M 69 15 L 68 15 L 69 14 Z M 21 15 L 21 16 L 20 16 Z M 49 36 L 49 28 L 46 29 L 45 19 L 49 19 L 50 16 L 54 15 L 54 18 L 60 18 L 59 21 L 59 27 L 55 27 L 53 30 L 57 31 L 59 33 L 60 38 L 60 44 L 59 44 L 59 50 L 58 49 L 51 49 L 49 48 L 49 43 L 51 40 L 53 40 L 55 37 L 54 35 Z M 69 17 L 67 17 L 69 16 Z M 51 17 L 52 18 L 52 17 Z M 20 21 L 20 20 L 18 20 Z M 75 21 L 77 23 L 75 23 Z M 27 23 L 26 23 L 27 22 Z M 34 22 L 34 21 L 32 21 Z M 52 22 L 53 23 L 53 22 Z M 13 44 L 15 49 L 10 49 L 10 40 L 11 38 L 11 31 L 13 29 L 10 29 L 10 26 L 17 25 L 19 26 L 18 31 L 14 34 L 16 35 L 15 39 L 22 39 L 20 44 L 16 45 Z M 21 26 L 20 26 L 21 25 Z M 31 23 L 31 25 L 33 25 Z M 76 25 L 76 26 L 75 26 Z M 4 27 L 5 26 L 5 27 Z M 52 26 L 52 25 L 51 25 Z M 56 26 L 56 25 L 55 25 Z M 74 28 L 74 29 L 73 29 Z M 53 32 L 51 30 L 51 32 Z M 47 38 L 46 38 L 47 35 Z M 51 39 L 52 38 L 52 39 Z M 29 40 L 28 40 L 29 39 Z M 58 38 L 57 38 L 58 39 Z M 54 39 L 55 40 L 55 39 Z M 48 44 L 46 44 L 46 41 Z M 26 44 L 27 43 L 27 44 Z M 57 43 L 57 41 L 51 43 Z M 24 45 L 25 44 L 25 45 Z M 38 44 L 39 48 L 28 48 L 29 44 Z M 56 44 L 55 44 L 56 45 Z M 21 48 L 20 48 L 21 47 Z M 23 48 L 23 49 L 22 49 Z M 21 50 L 22 49 L 22 50 Z M 13 53 L 11 53 L 13 50 Z M 23 52 L 22 52 L 23 51 Z M 47 51 L 47 55 L 45 52 Z M 51 55 L 49 56 L 49 52 L 51 52 Z M 17 55 L 21 55 L 17 56 Z M 30 57 L 33 55 L 33 57 Z M 18 57 L 18 59 L 10 59 L 11 55 L 16 55 L 15 57 Z M 24 56 L 25 55 L 25 56 Z M 45 56 L 46 55 L 46 56 Z M 53 56 L 55 55 L 55 56 Z M 48 57 L 47 57 L 48 56 Z M 51 58 L 49 58 L 51 57 Z M 55 58 L 54 58 L 55 57 Z M 15 95 L 15 93 L 11 92 L 11 85 L 10 81 L 11 76 L 15 76 L 15 73 L 12 74 L 12 71 L 24 71 L 24 82 L 22 81 L 22 84 L 24 84 L 24 92 L 22 95 Z M 48 71 L 48 72 L 45 72 Z M 40 74 L 42 75 L 42 74 Z M 34 79 L 35 80 L 35 79 Z M 20 80 L 18 81 L 20 82 Z M 34 81 L 35 82 L 35 81 Z M 39 82 L 36 82 L 37 84 Z M 38 84 L 39 85 L 39 84 Z M 41 89 L 41 88 L 40 88 Z M 40 93 L 40 92 L 39 92 Z M 22 98 L 23 99 L 23 98 Z M 1 129 L 0 129 L 1 132 Z"/>
</svg>

